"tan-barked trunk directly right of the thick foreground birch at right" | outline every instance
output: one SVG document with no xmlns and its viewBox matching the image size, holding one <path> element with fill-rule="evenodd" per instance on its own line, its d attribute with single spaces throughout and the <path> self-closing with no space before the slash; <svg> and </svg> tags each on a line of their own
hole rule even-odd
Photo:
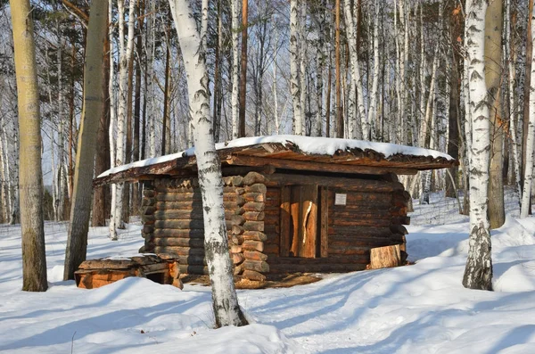
<svg viewBox="0 0 535 354">
<path fill-rule="evenodd" d="M 502 0 L 489 3 L 485 15 L 485 83 L 489 91 L 490 109 L 490 228 L 498 228 L 506 221 L 504 205 L 504 119 L 501 118 L 501 64 L 502 64 Z"/>
</svg>

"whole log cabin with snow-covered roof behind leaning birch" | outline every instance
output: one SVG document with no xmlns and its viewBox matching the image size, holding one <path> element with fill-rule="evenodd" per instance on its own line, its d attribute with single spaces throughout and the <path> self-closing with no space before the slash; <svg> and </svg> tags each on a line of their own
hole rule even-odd
<svg viewBox="0 0 535 354">
<path fill-rule="evenodd" d="M 307 136 L 217 148 L 235 276 L 253 281 L 362 270 L 371 250 L 404 251 L 410 195 L 398 175 L 457 163 L 416 147 Z M 174 257 L 182 274 L 208 274 L 193 149 L 110 169 L 94 185 L 125 181 L 143 185 L 140 252 Z"/>
</svg>

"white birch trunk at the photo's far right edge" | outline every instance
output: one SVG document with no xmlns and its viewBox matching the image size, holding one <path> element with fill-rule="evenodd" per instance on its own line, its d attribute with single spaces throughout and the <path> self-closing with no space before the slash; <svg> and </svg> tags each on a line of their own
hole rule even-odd
<svg viewBox="0 0 535 354">
<path fill-rule="evenodd" d="M 533 7 L 533 12 L 531 13 L 531 38 L 532 43 L 535 45 L 535 7 Z M 533 53 L 535 54 L 535 51 Z M 533 141 L 535 139 L 535 55 L 532 55 L 529 60 L 531 60 L 530 120 L 528 123 L 528 140 L 526 142 L 526 166 L 524 168 L 520 218 L 527 218 L 530 210 L 531 185 L 533 181 L 533 147 L 535 146 Z"/>
</svg>

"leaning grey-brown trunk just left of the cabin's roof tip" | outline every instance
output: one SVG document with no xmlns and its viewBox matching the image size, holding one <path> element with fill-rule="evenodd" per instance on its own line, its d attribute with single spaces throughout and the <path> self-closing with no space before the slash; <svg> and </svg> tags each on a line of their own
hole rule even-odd
<svg viewBox="0 0 535 354">
<path fill-rule="evenodd" d="M 91 214 L 91 193 L 98 120 L 103 111 L 104 37 L 108 1 L 91 3 L 87 29 L 84 68 L 84 105 L 78 133 L 74 188 L 70 204 L 69 234 L 65 251 L 63 280 L 74 279 L 74 272 L 86 260 L 87 231 Z"/>
</svg>

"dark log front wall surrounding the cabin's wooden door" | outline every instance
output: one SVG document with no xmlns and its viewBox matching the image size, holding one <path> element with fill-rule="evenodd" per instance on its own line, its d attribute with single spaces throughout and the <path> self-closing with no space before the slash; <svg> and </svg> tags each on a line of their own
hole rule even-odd
<svg viewBox="0 0 535 354">
<path fill-rule="evenodd" d="M 394 176 L 395 177 L 395 176 Z M 270 177 L 268 177 L 270 178 Z M 387 179 L 388 178 L 388 179 Z M 407 202 L 409 194 L 397 181 L 397 178 L 377 177 L 377 180 L 353 180 L 342 186 L 336 178 L 325 178 L 320 186 L 318 204 L 320 221 L 318 223 L 319 257 L 316 259 L 279 257 L 280 222 L 282 186 L 276 186 L 272 178 L 268 181 L 268 201 L 266 204 L 266 245 L 269 266 L 272 273 L 291 272 L 342 272 L 363 270 L 370 262 L 370 250 L 392 244 L 400 244 L 405 251 L 407 225 Z M 277 177 L 280 181 L 287 178 Z M 303 178 L 303 182 L 306 178 Z M 299 179 L 291 178 L 292 184 Z M 310 178 L 313 181 L 313 178 Z M 278 182 L 278 180 L 277 180 Z M 286 182 L 287 183 L 287 182 Z M 306 182 L 305 182 L 306 183 Z M 278 183 L 277 185 L 285 185 Z M 374 188 L 381 185 L 381 188 Z M 345 205 L 335 205 L 335 194 L 346 195 Z M 278 205 L 278 208 L 277 208 Z M 278 220 L 275 216 L 279 212 Z M 273 215 L 273 216 L 272 216 Z M 280 221 L 282 220 L 282 221 Z M 268 223 L 269 221 L 269 223 Z M 271 226 L 273 225 L 273 226 Z M 270 243 L 273 240 L 273 244 Z"/>
</svg>

